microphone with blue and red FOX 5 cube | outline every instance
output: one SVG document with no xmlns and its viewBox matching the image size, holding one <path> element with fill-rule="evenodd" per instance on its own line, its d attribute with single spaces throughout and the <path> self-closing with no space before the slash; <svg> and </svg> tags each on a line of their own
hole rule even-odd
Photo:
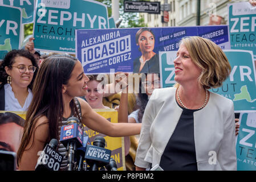
<svg viewBox="0 0 256 182">
<path fill-rule="evenodd" d="M 67 121 L 67 125 L 60 130 L 60 142 L 68 150 L 68 171 L 73 171 L 76 148 L 83 146 L 83 130 L 79 126 L 78 118 L 70 117 Z"/>
</svg>

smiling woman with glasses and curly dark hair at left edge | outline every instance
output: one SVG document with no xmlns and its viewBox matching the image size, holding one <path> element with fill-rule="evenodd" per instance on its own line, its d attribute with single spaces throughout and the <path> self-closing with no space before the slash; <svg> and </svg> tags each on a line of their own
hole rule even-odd
<svg viewBox="0 0 256 182">
<path fill-rule="evenodd" d="M 29 51 L 20 49 L 6 54 L 0 65 L 0 110 L 27 110 L 37 71 L 38 65 Z"/>
</svg>

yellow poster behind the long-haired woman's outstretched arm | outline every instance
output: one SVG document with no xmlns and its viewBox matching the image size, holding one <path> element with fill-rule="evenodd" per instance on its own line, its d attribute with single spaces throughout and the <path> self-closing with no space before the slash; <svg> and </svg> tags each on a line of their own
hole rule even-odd
<svg viewBox="0 0 256 182">
<path fill-rule="evenodd" d="M 118 113 L 115 109 L 94 109 L 98 114 L 106 118 L 109 122 L 118 122 Z M 111 158 L 115 159 L 118 171 L 125 171 L 125 155 L 124 155 L 124 137 L 108 137 L 105 134 L 98 133 L 94 130 L 84 127 L 84 132 L 89 136 L 91 142 L 95 137 L 101 136 L 105 138 L 105 148 L 111 150 Z"/>
</svg>

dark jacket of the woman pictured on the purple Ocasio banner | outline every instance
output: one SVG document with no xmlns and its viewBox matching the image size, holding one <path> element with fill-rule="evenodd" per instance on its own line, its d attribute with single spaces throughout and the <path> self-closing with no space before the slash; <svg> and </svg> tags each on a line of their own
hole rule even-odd
<svg viewBox="0 0 256 182">
<path fill-rule="evenodd" d="M 139 73 L 140 57 L 133 60 L 133 73 Z M 156 53 L 150 60 L 146 61 L 140 73 L 159 73 L 159 55 Z"/>
</svg>

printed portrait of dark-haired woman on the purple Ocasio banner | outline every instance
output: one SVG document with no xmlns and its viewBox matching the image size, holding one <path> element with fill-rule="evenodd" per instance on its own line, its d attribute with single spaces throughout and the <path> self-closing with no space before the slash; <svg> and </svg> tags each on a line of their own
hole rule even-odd
<svg viewBox="0 0 256 182">
<path fill-rule="evenodd" d="M 133 61 L 133 73 L 159 73 L 159 55 L 153 51 L 155 35 L 152 30 L 141 28 L 135 38 L 142 55 Z"/>
</svg>

